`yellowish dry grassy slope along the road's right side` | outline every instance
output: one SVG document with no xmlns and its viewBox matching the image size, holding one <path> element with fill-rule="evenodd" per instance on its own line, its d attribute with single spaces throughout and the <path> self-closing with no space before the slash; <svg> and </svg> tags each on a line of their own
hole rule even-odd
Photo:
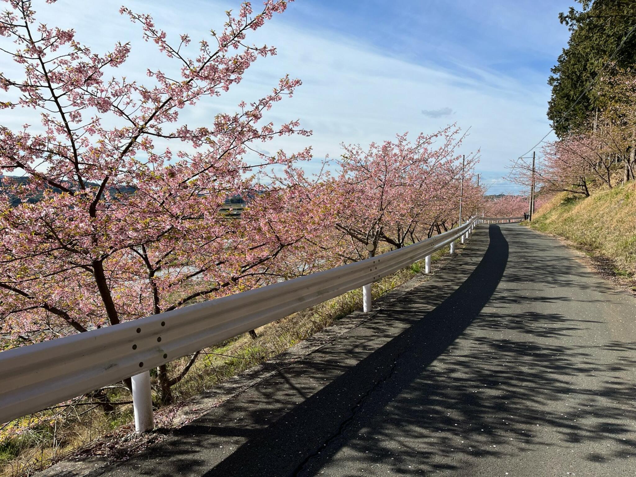
<svg viewBox="0 0 636 477">
<path fill-rule="evenodd" d="M 617 275 L 636 277 L 636 183 L 588 198 L 556 195 L 537 212 L 532 228 L 611 259 Z"/>
</svg>

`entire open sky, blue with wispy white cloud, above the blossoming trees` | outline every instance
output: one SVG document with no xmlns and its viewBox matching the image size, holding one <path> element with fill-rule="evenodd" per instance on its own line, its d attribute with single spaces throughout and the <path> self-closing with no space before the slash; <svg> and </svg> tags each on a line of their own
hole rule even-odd
<svg viewBox="0 0 636 477">
<path fill-rule="evenodd" d="M 151 13 L 169 35 L 188 32 L 193 44 L 220 30 L 234 0 L 130 0 Z M 90 8 L 86 5 L 90 4 Z M 256 7 L 258 2 L 254 2 Z M 573 0 L 296 0 L 254 34 L 254 43 L 278 48 L 259 59 L 227 95 L 184 111 L 183 119 L 209 123 L 240 100 L 268 93 L 284 74 L 301 78 L 291 100 L 277 104 L 273 121 L 300 118 L 309 138 L 268 144 L 275 150 L 314 147 L 316 158 L 340 154 L 340 143 L 368 144 L 405 131 L 417 134 L 457 122 L 471 128 L 463 149 L 481 149 L 481 172 L 491 191 L 514 191 L 502 179 L 511 159 L 548 132 L 546 84 L 569 37 L 557 15 Z M 112 0 L 86 3 L 34 1 L 38 19 L 73 27 L 77 38 L 106 51 L 131 41 L 130 60 L 113 73 L 145 77 L 146 67 L 169 73 L 174 65 L 141 40 L 139 27 L 118 14 Z M 60 21 L 60 19 L 62 19 Z M 195 54 L 195 52 L 192 52 Z M 4 71 L 11 69 L 3 64 Z M 172 75 L 176 76 L 176 75 Z M 0 123 L 27 120 L 27 111 L 4 111 Z M 307 165 L 317 168 L 318 160 Z"/>
</svg>

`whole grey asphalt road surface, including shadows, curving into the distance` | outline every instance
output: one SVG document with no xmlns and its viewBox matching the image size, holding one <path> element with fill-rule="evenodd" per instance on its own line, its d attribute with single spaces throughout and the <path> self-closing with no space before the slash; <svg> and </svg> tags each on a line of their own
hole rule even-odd
<svg viewBox="0 0 636 477">
<path fill-rule="evenodd" d="M 636 299 L 480 226 L 369 321 L 93 476 L 633 476 Z"/>
</svg>

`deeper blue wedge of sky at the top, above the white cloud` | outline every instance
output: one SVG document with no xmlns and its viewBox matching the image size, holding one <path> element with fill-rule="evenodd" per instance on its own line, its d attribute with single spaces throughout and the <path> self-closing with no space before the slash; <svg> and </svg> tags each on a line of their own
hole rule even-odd
<svg viewBox="0 0 636 477">
<path fill-rule="evenodd" d="M 556 19 L 569 1 L 298 2 L 289 20 L 349 35 L 406 61 L 544 78 L 567 40 Z"/>
</svg>

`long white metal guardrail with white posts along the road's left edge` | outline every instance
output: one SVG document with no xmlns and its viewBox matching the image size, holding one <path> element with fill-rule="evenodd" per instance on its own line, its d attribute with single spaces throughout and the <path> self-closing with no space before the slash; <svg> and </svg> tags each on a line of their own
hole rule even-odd
<svg viewBox="0 0 636 477">
<path fill-rule="evenodd" d="M 368 312 L 371 283 L 422 258 L 429 273 L 432 252 L 450 244 L 453 254 L 455 240 L 463 244 L 484 222 L 471 218 L 417 244 L 324 272 L 0 352 L 0 424 L 132 377 L 135 429 L 152 429 L 151 368 L 358 287 Z"/>
</svg>

